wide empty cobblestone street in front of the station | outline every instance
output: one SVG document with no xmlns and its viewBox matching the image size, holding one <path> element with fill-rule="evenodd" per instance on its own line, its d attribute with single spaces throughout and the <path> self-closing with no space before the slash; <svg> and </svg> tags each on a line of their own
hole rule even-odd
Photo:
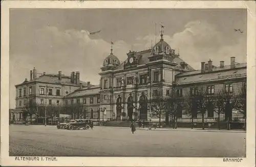
<svg viewBox="0 0 256 167">
<path fill-rule="evenodd" d="M 10 156 L 242 157 L 241 132 L 147 131 L 10 125 Z"/>
</svg>

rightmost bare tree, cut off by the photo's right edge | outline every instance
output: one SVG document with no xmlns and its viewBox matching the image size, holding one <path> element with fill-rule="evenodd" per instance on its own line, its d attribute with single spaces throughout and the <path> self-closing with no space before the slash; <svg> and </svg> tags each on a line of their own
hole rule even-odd
<svg viewBox="0 0 256 167">
<path fill-rule="evenodd" d="M 246 90 L 242 88 L 239 91 L 239 94 L 237 96 L 236 105 L 234 105 L 234 108 L 236 108 L 240 113 L 243 114 L 244 120 L 244 130 L 246 130 Z"/>
</svg>

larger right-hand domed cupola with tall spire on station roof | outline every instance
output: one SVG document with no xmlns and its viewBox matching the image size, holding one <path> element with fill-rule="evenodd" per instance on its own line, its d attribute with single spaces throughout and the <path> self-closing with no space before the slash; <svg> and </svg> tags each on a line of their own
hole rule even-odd
<svg viewBox="0 0 256 167">
<path fill-rule="evenodd" d="M 178 57 L 179 54 L 175 54 L 175 50 L 170 47 L 169 44 L 167 44 L 163 40 L 163 24 L 160 24 L 161 26 L 161 39 L 160 41 L 152 47 L 151 54 L 150 54 L 150 61 L 156 61 L 156 60 L 168 60 L 173 61 L 175 57 Z"/>
</svg>

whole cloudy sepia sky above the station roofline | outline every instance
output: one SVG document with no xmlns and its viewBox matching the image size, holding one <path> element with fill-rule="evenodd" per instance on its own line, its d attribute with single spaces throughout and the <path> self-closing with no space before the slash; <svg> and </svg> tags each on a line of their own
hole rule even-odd
<svg viewBox="0 0 256 167">
<path fill-rule="evenodd" d="M 230 57 L 244 63 L 246 17 L 244 9 L 11 9 L 10 108 L 15 107 L 14 86 L 29 79 L 33 67 L 68 76 L 79 71 L 82 81 L 98 85 L 111 40 L 123 62 L 129 50 L 154 45 L 156 34 L 159 41 L 161 22 L 164 40 L 195 69 L 209 59 L 215 66 L 229 65 Z"/>
</svg>

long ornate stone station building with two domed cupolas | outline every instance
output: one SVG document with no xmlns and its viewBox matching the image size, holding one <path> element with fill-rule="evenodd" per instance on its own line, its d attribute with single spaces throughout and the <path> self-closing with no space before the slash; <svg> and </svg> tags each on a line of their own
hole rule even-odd
<svg viewBox="0 0 256 167">
<path fill-rule="evenodd" d="M 36 70 L 31 70 L 30 80 L 15 86 L 16 109 L 11 112 L 17 114 L 17 118 L 22 117 L 17 111 L 22 110 L 28 99 L 33 99 L 38 104 L 59 106 L 79 103 L 83 112 L 78 118 L 117 121 L 151 118 L 154 121 L 158 119 L 148 107 L 152 97 L 169 96 L 174 84 L 175 93 L 184 97 L 199 85 L 205 86 L 209 94 L 220 90 L 238 94 L 241 88 L 246 89 L 246 63 L 237 63 L 236 58 L 231 57 L 230 64 L 220 61 L 217 67 L 209 60 L 201 62 L 201 69 L 195 70 L 164 41 L 162 33 L 155 46 L 142 51 L 130 50 L 123 63 L 111 47 L 110 55 L 102 63 L 99 85 L 81 81 L 79 72 L 72 72 L 70 76 L 61 71 L 36 75 Z M 215 117 L 215 113 L 206 113 L 205 121 Z M 187 116 L 182 115 L 179 119 L 185 118 Z"/>
</svg>

